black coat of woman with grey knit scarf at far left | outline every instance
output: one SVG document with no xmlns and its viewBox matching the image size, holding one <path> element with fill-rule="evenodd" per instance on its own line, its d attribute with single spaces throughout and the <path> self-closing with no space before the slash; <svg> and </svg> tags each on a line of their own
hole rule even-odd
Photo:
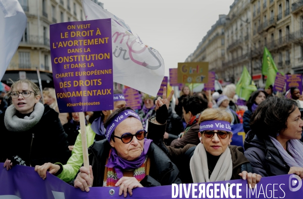
<svg viewBox="0 0 303 199">
<path fill-rule="evenodd" d="M 47 162 L 66 164 L 69 158 L 67 134 L 58 113 L 44 105 L 40 121 L 25 132 L 12 132 L 4 124 L 5 113 L 0 114 L 0 162 L 19 156 L 27 166 Z"/>
</svg>

